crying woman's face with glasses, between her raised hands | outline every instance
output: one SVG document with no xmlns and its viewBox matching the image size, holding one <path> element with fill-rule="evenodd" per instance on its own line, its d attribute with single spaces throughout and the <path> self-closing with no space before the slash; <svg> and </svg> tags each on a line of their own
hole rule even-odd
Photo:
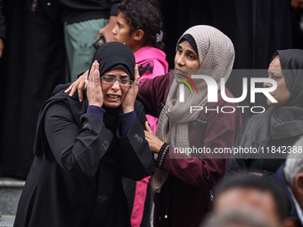
<svg viewBox="0 0 303 227">
<path fill-rule="evenodd" d="M 127 75 L 127 72 L 121 68 L 112 69 L 100 77 L 105 75 L 115 77 L 116 79 L 131 79 Z M 113 84 L 103 83 L 101 80 L 101 87 L 103 93 L 103 104 L 109 108 L 117 108 L 122 104 L 130 86 L 120 85 L 118 80 L 116 80 Z"/>
</svg>

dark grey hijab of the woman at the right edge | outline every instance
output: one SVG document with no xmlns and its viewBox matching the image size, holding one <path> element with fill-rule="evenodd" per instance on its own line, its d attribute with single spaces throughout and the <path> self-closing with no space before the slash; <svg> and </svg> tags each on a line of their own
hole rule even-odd
<svg viewBox="0 0 303 227">
<path fill-rule="evenodd" d="M 303 134 L 303 50 L 277 51 L 283 76 L 291 96 L 281 107 L 270 107 L 250 118 L 240 142 L 241 147 L 266 146 L 279 140 Z"/>
</svg>

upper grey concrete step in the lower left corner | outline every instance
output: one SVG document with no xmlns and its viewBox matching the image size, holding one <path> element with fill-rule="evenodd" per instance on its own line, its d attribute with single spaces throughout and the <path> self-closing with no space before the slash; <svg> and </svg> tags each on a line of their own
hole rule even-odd
<svg viewBox="0 0 303 227">
<path fill-rule="evenodd" d="M 24 184 L 25 181 L 0 178 L 0 212 L 3 217 L 5 215 L 16 215 Z"/>
</svg>

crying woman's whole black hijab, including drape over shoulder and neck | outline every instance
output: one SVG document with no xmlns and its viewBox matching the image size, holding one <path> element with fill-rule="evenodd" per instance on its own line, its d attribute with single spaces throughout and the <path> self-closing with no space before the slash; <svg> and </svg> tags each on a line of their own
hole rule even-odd
<svg viewBox="0 0 303 227">
<path fill-rule="evenodd" d="M 100 75 L 110 71 L 111 69 L 122 68 L 125 69 L 128 76 L 134 79 L 134 68 L 135 68 L 135 57 L 134 53 L 129 49 L 127 45 L 121 44 L 119 42 L 110 42 L 102 45 L 96 53 L 94 53 L 94 58 L 92 60 L 91 66 L 94 61 L 98 61 L 100 65 Z M 90 67 L 91 68 L 91 67 Z M 89 68 L 89 69 L 90 69 Z M 89 73 L 88 73 L 89 75 Z M 52 93 L 52 96 L 45 101 L 42 108 L 40 109 L 39 118 L 37 121 L 37 132 L 34 145 L 34 153 L 36 156 L 42 156 L 45 149 L 49 149 L 47 144 L 47 139 L 45 136 L 45 114 L 47 109 L 53 105 L 54 102 L 62 101 L 67 106 L 70 107 L 70 111 L 80 125 L 81 116 L 86 113 L 88 101 L 86 99 L 86 93 L 84 93 L 84 101 L 80 102 L 78 100 L 78 93 L 75 93 L 72 97 L 68 93 L 64 93 L 70 84 L 58 85 Z M 111 130 L 112 134 L 116 134 L 119 125 L 119 114 L 122 113 L 122 108 L 107 108 L 105 109 L 103 115 L 103 123 L 105 126 Z M 115 137 L 114 140 L 117 138 Z M 114 142 L 112 142 L 114 144 Z M 47 148 L 45 148 L 47 147 Z"/>
</svg>

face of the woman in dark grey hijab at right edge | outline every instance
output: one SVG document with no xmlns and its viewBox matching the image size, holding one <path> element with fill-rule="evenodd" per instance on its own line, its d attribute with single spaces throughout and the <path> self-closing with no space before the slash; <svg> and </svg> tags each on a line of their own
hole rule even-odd
<svg viewBox="0 0 303 227">
<path fill-rule="evenodd" d="M 267 105 L 273 106 L 273 107 L 280 107 L 285 104 L 286 101 L 291 97 L 291 92 L 288 89 L 283 73 L 282 68 L 280 64 L 279 57 L 275 57 L 274 60 L 269 64 L 268 67 L 268 78 L 274 79 L 277 87 L 274 90 L 274 92 L 271 92 L 270 94 L 274 97 L 274 99 L 278 102 L 272 102 L 267 99 Z M 270 83 L 264 83 L 264 87 L 271 87 L 272 84 Z"/>
</svg>

